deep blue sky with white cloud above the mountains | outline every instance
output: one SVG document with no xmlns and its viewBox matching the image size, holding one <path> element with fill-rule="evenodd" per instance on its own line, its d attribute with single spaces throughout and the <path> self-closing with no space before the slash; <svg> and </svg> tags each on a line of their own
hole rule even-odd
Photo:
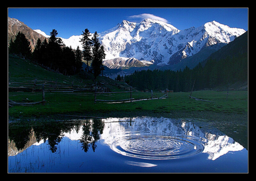
<svg viewBox="0 0 256 181">
<path fill-rule="evenodd" d="M 58 36 L 63 38 L 80 35 L 86 28 L 92 33 L 100 33 L 113 28 L 122 20 L 140 22 L 146 17 L 164 20 L 180 30 L 198 27 L 213 20 L 248 30 L 247 8 L 9 8 L 8 16 L 22 21 L 32 29 L 41 29 L 48 35 L 52 29 L 56 29 Z"/>
</svg>

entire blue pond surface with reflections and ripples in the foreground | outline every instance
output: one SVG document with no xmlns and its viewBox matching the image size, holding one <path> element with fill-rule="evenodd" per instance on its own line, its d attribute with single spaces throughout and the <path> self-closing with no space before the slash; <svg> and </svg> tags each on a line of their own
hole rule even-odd
<svg viewBox="0 0 256 181">
<path fill-rule="evenodd" d="M 195 120 L 9 123 L 9 172 L 247 172 L 247 157 L 233 138 Z"/>
</svg>

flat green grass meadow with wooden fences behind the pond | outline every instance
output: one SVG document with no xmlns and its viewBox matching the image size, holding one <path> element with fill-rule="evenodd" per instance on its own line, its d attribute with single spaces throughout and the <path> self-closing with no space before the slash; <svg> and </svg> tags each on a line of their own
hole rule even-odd
<svg viewBox="0 0 256 181">
<path fill-rule="evenodd" d="M 162 92 L 155 92 L 154 95 L 161 96 Z M 33 106 L 14 106 L 9 108 L 9 115 L 12 116 L 37 116 L 62 113 L 111 113 L 111 112 L 145 112 L 169 113 L 172 111 L 210 111 L 216 113 L 235 113 L 244 114 L 247 112 L 247 91 L 227 92 L 216 91 L 196 91 L 192 93 L 193 97 L 214 101 L 215 103 L 197 101 L 189 98 L 190 92 L 172 92 L 168 93 L 166 99 L 153 99 L 146 101 L 133 101 L 125 103 L 94 103 L 94 93 L 60 93 L 46 92 L 45 105 Z M 151 94 L 146 92 L 133 92 L 135 99 L 150 98 Z M 130 98 L 130 93 L 122 94 L 102 94 L 97 95 L 97 99 L 119 100 Z M 41 92 L 9 92 L 9 99 L 16 102 L 34 102 L 42 101 Z M 146 116 L 146 115 L 145 115 Z"/>
</svg>

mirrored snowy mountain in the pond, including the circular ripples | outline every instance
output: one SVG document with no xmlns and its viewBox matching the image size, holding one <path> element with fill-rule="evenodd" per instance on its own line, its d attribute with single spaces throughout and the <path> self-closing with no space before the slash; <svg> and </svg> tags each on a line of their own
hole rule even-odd
<svg viewBox="0 0 256 181">
<path fill-rule="evenodd" d="M 244 149 L 233 138 L 216 130 L 215 134 L 205 132 L 192 121 L 147 117 L 104 121 L 102 139 L 115 152 L 126 156 L 174 159 L 204 152 L 208 159 L 215 160 L 229 151 Z"/>
</svg>

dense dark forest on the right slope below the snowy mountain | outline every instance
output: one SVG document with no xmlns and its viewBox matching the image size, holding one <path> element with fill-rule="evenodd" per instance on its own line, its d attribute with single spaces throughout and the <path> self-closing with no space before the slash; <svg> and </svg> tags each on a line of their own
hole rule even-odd
<svg viewBox="0 0 256 181">
<path fill-rule="evenodd" d="M 209 59 L 203 66 L 199 63 L 195 68 L 187 66 L 183 70 L 142 70 L 125 76 L 125 82 L 138 90 L 164 90 L 189 92 L 216 87 L 228 88 L 232 83 L 247 81 L 247 53 L 229 56 L 222 60 Z"/>
</svg>

